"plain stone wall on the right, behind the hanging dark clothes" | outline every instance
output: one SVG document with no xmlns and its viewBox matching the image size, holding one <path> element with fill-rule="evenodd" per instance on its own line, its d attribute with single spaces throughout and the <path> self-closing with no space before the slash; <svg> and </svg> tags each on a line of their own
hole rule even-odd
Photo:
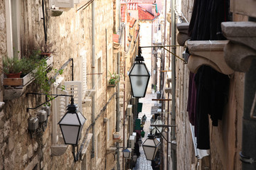
<svg viewBox="0 0 256 170">
<path fill-rule="evenodd" d="M 191 18 L 193 1 L 182 1 L 184 16 Z M 247 21 L 247 17 L 233 15 L 233 21 Z M 183 48 L 176 50 L 182 56 Z M 244 80 L 243 73 L 230 75 L 230 91 L 228 104 L 225 106 L 223 120 L 218 121 L 218 127 L 210 129 L 210 169 L 241 169 L 239 152 L 242 144 L 242 114 Z M 176 60 L 176 132 L 177 132 L 177 169 L 191 169 L 195 158 L 191 130 L 189 128 L 186 101 L 188 93 L 188 69 L 180 60 Z M 200 165 L 202 166 L 202 164 Z M 195 166 L 193 166 L 195 167 Z"/>
</svg>

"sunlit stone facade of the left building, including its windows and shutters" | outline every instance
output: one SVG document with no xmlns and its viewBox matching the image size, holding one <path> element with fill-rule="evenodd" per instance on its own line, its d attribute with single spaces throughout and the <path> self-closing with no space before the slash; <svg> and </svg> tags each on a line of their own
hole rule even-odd
<svg viewBox="0 0 256 170">
<path fill-rule="evenodd" d="M 80 84 L 75 95 L 87 120 L 75 151 L 79 151 L 78 162 L 74 162 L 72 147 L 63 144 L 57 125 L 60 102 L 70 103 L 69 99 L 58 97 L 50 101 L 47 126 L 38 128 L 36 132 L 28 131 L 28 120 L 36 117 L 38 110 L 26 111 L 26 108 L 34 108 L 45 101 L 44 96 L 26 95 L 40 93 L 32 81 L 18 88 L 1 86 L 0 169 L 115 169 L 117 149 L 113 152 L 112 147 L 117 145 L 117 141 L 112 134 L 116 131 L 116 122 L 120 121 L 116 118 L 120 108 L 117 108 L 117 87 L 109 86 L 108 81 L 110 73 L 117 73 L 119 65 L 113 48 L 113 32 L 120 32 L 119 1 L 78 0 L 69 1 L 68 6 L 64 3 L 64 7 L 57 2 L 0 1 L 0 55 L 2 60 L 4 55 L 12 57 L 17 50 L 21 54 L 19 57 L 26 57 L 28 51 L 38 47 L 40 42 L 54 42 L 57 52 L 53 55 L 53 69 L 48 77 L 55 75 L 55 69 L 65 66 L 63 74 L 58 75 L 51 86 L 51 93 L 64 93 L 59 89 L 62 85 L 68 88 L 66 81 Z M 135 42 L 130 42 L 128 51 L 119 49 L 123 53 L 122 62 L 127 60 L 124 63 L 129 69 L 137 52 L 134 49 L 137 48 L 138 41 L 135 40 L 139 27 L 137 23 L 129 27 L 127 21 L 124 25 L 133 37 L 132 42 Z M 128 37 L 127 34 L 125 36 Z M 122 47 L 127 43 L 124 42 Z M 70 58 L 74 64 L 73 78 Z M 127 77 L 126 70 L 122 71 L 124 77 Z M 121 80 L 122 84 L 129 83 L 127 78 Z M 123 111 L 131 98 L 129 85 L 124 89 Z M 129 134 L 129 130 L 124 132 Z"/>
</svg>

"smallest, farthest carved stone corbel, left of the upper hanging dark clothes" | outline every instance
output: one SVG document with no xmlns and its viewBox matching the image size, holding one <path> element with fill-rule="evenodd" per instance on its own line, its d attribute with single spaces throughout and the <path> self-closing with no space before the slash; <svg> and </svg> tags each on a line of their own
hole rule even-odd
<svg viewBox="0 0 256 170">
<path fill-rule="evenodd" d="M 176 27 L 178 29 L 177 42 L 178 45 L 184 46 L 186 40 L 190 39 L 188 36 L 188 26 L 189 23 L 177 23 Z"/>
</svg>

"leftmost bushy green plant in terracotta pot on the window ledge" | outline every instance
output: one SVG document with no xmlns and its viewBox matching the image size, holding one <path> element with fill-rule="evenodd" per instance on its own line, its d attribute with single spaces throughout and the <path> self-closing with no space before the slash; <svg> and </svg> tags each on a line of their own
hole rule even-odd
<svg viewBox="0 0 256 170">
<path fill-rule="evenodd" d="M 18 57 L 8 57 L 3 58 L 3 72 L 7 78 L 19 78 L 21 77 L 21 70 L 23 69 L 23 64 Z"/>
</svg>

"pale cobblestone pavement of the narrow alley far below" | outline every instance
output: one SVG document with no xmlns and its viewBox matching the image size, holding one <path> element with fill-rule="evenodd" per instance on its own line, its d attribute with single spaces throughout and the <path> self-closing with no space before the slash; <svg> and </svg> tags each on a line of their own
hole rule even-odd
<svg viewBox="0 0 256 170">
<path fill-rule="evenodd" d="M 142 137 L 142 142 L 146 140 L 146 137 L 149 133 L 149 125 L 151 119 L 151 106 L 154 106 L 155 101 L 152 101 L 152 98 L 156 98 L 156 94 L 146 94 L 145 98 L 139 98 L 139 102 L 143 103 L 142 113 L 139 113 L 139 118 L 146 115 L 146 123 L 144 125 L 143 130 L 145 131 L 145 136 Z M 151 170 L 151 161 L 146 160 L 146 156 L 142 147 L 139 147 L 140 157 L 137 159 L 136 166 L 133 170 Z"/>
</svg>

